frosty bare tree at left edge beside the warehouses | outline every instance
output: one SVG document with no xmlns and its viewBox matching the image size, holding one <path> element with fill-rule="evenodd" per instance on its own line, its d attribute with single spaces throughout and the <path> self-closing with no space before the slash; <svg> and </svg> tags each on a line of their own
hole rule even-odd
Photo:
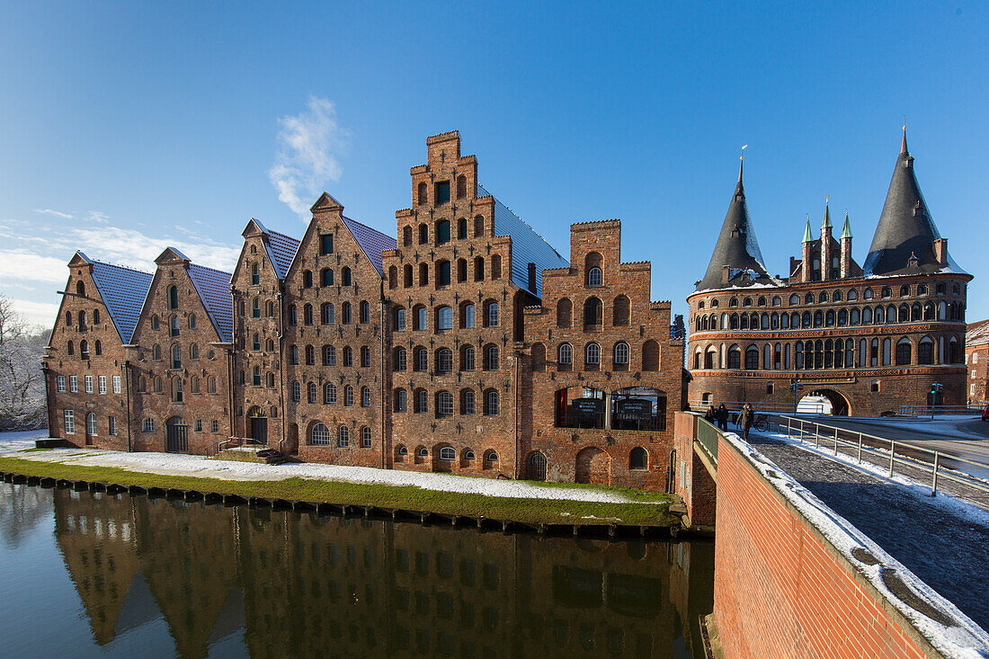
<svg viewBox="0 0 989 659">
<path fill-rule="evenodd" d="M 0 295 L 0 430 L 45 427 L 42 357 L 48 335 Z"/>
</svg>

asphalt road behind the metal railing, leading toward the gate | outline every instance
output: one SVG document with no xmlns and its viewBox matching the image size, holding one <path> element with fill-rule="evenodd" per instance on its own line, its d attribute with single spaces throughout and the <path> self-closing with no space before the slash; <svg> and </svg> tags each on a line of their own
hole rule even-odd
<svg viewBox="0 0 989 659">
<path fill-rule="evenodd" d="M 802 419 L 851 430 L 851 433 L 843 433 L 843 439 L 854 437 L 857 441 L 856 433 L 865 432 L 885 439 L 922 445 L 931 450 L 941 451 L 944 455 L 972 460 L 980 464 L 972 465 L 944 456 L 941 458 L 942 464 L 946 467 L 989 479 L 989 422 L 983 422 L 978 417 L 937 417 L 933 422 L 818 416 L 802 417 Z M 899 452 L 897 449 L 897 453 Z M 928 462 L 933 460 L 931 456 L 923 453 L 918 453 L 915 457 Z"/>
</svg>

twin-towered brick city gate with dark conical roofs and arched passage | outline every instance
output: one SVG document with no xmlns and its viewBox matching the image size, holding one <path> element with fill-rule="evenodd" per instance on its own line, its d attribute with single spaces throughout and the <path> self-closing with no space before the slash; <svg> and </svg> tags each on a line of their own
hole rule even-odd
<svg viewBox="0 0 989 659">
<path fill-rule="evenodd" d="M 914 173 L 904 130 L 886 201 L 862 266 L 846 215 L 833 235 L 804 233 L 785 278 L 768 274 L 746 206 L 742 169 L 703 279 L 687 297 L 690 402 L 792 410 L 827 397 L 835 414 L 965 403 L 965 299 L 971 275 L 950 259 Z M 934 383 L 943 385 L 937 400 Z M 877 395 L 879 394 L 879 395 Z"/>
</svg>

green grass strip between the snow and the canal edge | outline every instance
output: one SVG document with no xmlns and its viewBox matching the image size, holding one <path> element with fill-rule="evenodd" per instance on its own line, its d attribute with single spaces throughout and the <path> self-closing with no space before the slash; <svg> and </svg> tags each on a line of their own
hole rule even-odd
<svg viewBox="0 0 989 659">
<path fill-rule="evenodd" d="M 635 503 L 611 504 L 561 499 L 516 499 L 478 494 L 437 492 L 412 486 L 322 481 L 289 478 L 279 481 L 235 481 L 196 476 L 167 476 L 117 467 L 93 467 L 42 462 L 0 456 L 0 471 L 56 479 L 82 480 L 142 488 L 175 488 L 216 492 L 238 497 L 262 497 L 335 505 L 375 506 L 438 513 L 507 519 L 531 524 L 628 524 L 672 526 L 679 518 L 669 512 L 668 495 L 625 488 L 599 488 L 637 499 Z M 558 487 L 566 487 L 562 484 Z M 583 489 L 584 486 L 576 486 Z M 641 502 L 641 503 L 640 503 Z"/>
</svg>

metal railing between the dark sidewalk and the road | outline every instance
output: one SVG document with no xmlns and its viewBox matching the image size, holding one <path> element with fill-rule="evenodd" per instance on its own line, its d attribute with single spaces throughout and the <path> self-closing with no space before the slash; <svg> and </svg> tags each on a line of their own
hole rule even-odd
<svg viewBox="0 0 989 659">
<path fill-rule="evenodd" d="M 776 416 L 771 421 L 780 430 L 785 429 L 787 436 L 791 438 L 795 437 L 801 442 L 813 442 L 814 446 L 819 449 L 822 445 L 826 449 L 830 446 L 830 448 L 834 449 L 835 455 L 838 455 L 840 447 L 848 448 L 851 451 L 849 454 L 854 454 L 858 464 L 862 463 L 862 455 L 879 458 L 878 462 L 871 460 L 867 462 L 872 465 L 881 465 L 883 468 L 888 464 L 890 478 L 896 473 L 897 461 L 901 465 L 902 472 L 906 471 L 902 467 L 911 467 L 922 471 L 929 470 L 931 472 L 932 497 L 938 493 L 938 481 L 940 479 L 989 494 L 989 481 L 942 465 L 942 460 L 947 459 L 951 462 L 971 465 L 979 469 L 989 469 L 989 465 L 983 462 L 969 460 L 968 458 L 963 458 L 952 453 L 945 453 L 944 451 L 908 441 L 898 441 L 896 439 L 868 434 L 867 432 L 859 432 L 834 425 L 819 424 L 793 417 Z M 822 430 L 824 431 L 822 432 Z M 845 435 L 844 437 L 842 436 L 843 434 Z M 912 475 L 906 473 L 902 473 L 901 475 L 916 480 Z"/>
</svg>

